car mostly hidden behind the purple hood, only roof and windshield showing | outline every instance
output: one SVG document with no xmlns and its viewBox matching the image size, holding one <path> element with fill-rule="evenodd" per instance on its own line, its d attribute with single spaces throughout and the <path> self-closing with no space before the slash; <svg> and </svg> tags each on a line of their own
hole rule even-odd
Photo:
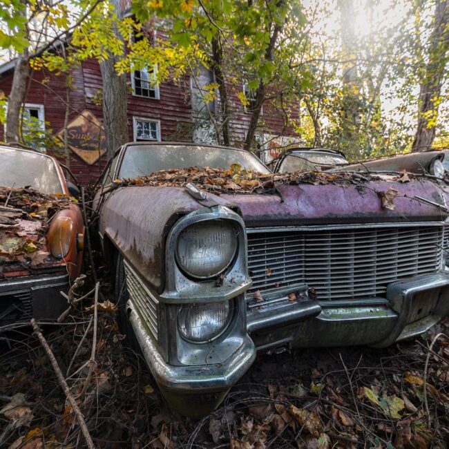
<svg viewBox="0 0 449 449">
<path fill-rule="evenodd" d="M 269 168 L 274 173 L 292 173 L 299 170 L 325 171 L 349 164 L 340 151 L 324 148 L 287 149 Z"/>
</svg>

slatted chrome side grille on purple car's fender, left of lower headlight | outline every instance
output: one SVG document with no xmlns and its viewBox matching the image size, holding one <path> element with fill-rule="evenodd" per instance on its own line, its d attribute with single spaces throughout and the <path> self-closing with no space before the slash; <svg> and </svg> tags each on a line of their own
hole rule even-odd
<svg viewBox="0 0 449 449">
<path fill-rule="evenodd" d="M 157 305 L 159 301 L 143 285 L 134 270 L 126 262 L 124 265 L 129 298 L 157 339 Z"/>
</svg>

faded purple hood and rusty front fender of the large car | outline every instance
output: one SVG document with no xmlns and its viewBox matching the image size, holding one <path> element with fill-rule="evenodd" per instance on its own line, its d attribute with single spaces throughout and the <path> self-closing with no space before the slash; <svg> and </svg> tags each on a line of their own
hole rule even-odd
<svg viewBox="0 0 449 449">
<path fill-rule="evenodd" d="M 397 195 L 390 203 L 383 201 L 388 193 Z M 441 221 L 448 215 L 446 193 L 427 180 L 300 184 L 272 193 L 209 193 L 206 200 L 195 200 L 184 187 L 126 186 L 97 193 L 96 202 L 101 204 L 101 236 L 120 249 L 158 293 L 165 283 L 166 236 L 180 217 L 203 207 L 229 207 L 247 227 Z"/>
</svg>

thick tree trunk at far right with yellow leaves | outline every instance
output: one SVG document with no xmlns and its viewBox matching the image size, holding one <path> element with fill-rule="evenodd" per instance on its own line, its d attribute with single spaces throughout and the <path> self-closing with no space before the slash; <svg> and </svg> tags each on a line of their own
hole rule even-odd
<svg viewBox="0 0 449 449">
<path fill-rule="evenodd" d="M 435 137 L 439 97 L 446 75 L 449 52 L 449 0 L 437 0 L 434 29 L 430 36 L 426 77 L 419 85 L 419 112 L 417 133 L 412 151 L 426 151 Z"/>
</svg>

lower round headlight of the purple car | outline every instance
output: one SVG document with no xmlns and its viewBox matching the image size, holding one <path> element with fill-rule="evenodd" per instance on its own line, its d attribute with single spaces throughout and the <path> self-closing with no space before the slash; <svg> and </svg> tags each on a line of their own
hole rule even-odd
<svg viewBox="0 0 449 449">
<path fill-rule="evenodd" d="M 178 328 L 183 338 L 207 343 L 220 336 L 231 321 L 231 302 L 185 304 L 178 313 Z"/>
</svg>

